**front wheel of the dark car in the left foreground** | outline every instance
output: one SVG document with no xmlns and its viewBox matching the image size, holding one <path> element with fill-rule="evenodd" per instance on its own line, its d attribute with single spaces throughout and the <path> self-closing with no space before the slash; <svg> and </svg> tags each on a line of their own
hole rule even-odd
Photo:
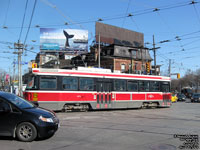
<svg viewBox="0 0 200 150">
<path fill-rule="evenodd" d="M 32 123 L 23 122 L 17 126 L 17 138 L 23 142 L 31 142 L 37 137 L 37 130 Z"/>
</svg>

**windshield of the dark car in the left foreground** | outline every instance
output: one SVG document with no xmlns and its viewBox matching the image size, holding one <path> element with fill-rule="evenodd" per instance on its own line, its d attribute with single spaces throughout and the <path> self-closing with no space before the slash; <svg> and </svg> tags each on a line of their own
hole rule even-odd
<svg viewBox="0 0 200 150">
<path fill-rule="evenodd" d="M 13 103 L 14 105 L 16 105 L 17 107 L 21 108 L 21 109 L 27 109 L 27 108 L 33 108 L 35 107 L 34 104 L 26 101 L 25 99 L 18 97 L 14 94 L 2 94 L 2 97 L 4 97 L 5 99 L 7 99 L 8 101 L 10 101 L 11 103 Z"/>
</svg>

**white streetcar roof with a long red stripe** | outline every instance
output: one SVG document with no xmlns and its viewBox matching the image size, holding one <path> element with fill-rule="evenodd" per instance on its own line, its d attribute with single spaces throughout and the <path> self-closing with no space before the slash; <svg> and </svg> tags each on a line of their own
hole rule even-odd
<svg viewBox="0 0 200 150">
<path fill-rule="evenodd" d="M 83 68 L 83 67 L 81 67 Z M 153 75 L 139 75 L 126 73 L 112 73 L 110 69 L 49 69 L 49 68 L 33 68 L 32 73 L 36 75 L 57 75 L 57 76 L 77 76 L 77 77 L 93 77 L 93 78 L 115 78 L 115 79 L 137 79 L 137 80 L 158 80 L 170 81 L 170 77 L 153 76 Z"/>
</svg>

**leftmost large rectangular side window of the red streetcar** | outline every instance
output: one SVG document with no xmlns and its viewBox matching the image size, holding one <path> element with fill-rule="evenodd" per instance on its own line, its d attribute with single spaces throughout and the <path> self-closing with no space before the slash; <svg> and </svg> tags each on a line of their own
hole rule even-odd
<svg viewBox="0 0 200 150">
<path fill-rule="evenodd" d="M 40 89 L 56 89 L 56 77 L 40 77 Z"/>
</svg>

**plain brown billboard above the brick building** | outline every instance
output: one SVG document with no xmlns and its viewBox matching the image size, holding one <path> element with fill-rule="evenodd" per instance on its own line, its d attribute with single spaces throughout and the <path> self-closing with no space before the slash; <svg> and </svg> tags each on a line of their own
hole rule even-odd
<svg viewBox="0 0 200 150">
<path fill-rule="evenodd" d="M 128 47 L 142 47 L 144 34 L 128 29 L 96 22 L 96 41 Z"/>
</svg>

